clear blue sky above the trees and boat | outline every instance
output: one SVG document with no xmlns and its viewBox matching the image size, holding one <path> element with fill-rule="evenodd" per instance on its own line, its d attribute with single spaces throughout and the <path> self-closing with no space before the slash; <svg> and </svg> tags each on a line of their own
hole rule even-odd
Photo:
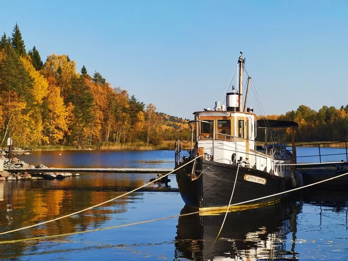
<svg viewBox="0 0 348 261">
<path fill-rule="evenodd" d="M 1 1 L 1 35 L 16 22 L 43 61 L 67 54 L 174 116 L 213 108 L 239 51 L 266 114 L 348 104 L 347 0 Z"/>
</svg>

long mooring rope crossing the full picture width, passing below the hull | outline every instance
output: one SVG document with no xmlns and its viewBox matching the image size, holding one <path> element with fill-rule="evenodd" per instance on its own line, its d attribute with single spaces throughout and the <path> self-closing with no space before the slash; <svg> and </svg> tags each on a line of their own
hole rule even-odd
<svg viewBox="0 0 348 261">
<path fill-rule="evenodd" d="M 194 160 L 192 160 L 194 161 Z M 191 161 L 191 162 L 192 162 Z M 188 163 L 187 163 L 188 164 Z M 182 166 L 184 167 L 184 165 Z M 55 237 L 63 237 L 63 236 L 69 236 L 69 235 L 76 235 L 76 234 L 84 234 L 84 233 L 89 233 L 89 232 L 95 232 L 95 231 L 102 231 L 102 230 L 108 230 L 108 229 L 114 229 L 114 228 L 120 228 L 120 227 L 127 227 L 127 226 L 133 226 L 133 225 L 138 225 L 138 224 L 144 224 L 144 223 L 150 223 L 150 222 L 155 222 L 155 221 L 160 221 L 160 220 L 166 220 L 166 219 L 171 219 L 171 218 L 176 218 L 176 217 L 183 217 L 183 216 L 188 216 L 188 215 L 194 215 L 194 214 L 198 214 L 198 213 L 204 213 L 204 212 L 209 212 L 209 211 L 212 211 L 212 210 L 220 210 L 220 209 L 224 209 L 226 207 L 230 207 L 230 206 L 237 206 L 237 205 L 241 205 L 241 204 L 245 204 L 245 203 L 250 203 L 252 201 L 257 201 L 257 200 L 260 200 L 260 199 L 265 199 L 265 198 L 268 198 L 268 197 L 273 197 L 273 196 L 277 196 L 277 195 L 281 195 L 281 194 L 284 194 L 284 193 L 290 193 L 290 192 L 293 192 L 295 190 L 299 190 L 299 189 L 303 189 L 303 188 L 306 188 L 306 187 L 310 187 L 310 186 L 313 186 L 313 185 L 317 185 L 317 184 L 320 184 L 320 183 L 323 183 L 323 182 L 326 182 L 326 181 L 329 181 L 329 180 L 332 180 L 332 179 L 335 179 L 335 178 L 338 178 L 338 177 L 342 177 L 342 176 L 345 176 L 347 175 L 347 173 L 344 173 L 344 174 L 340 174 L 338 176 L 334 176 L 334 177 L 330 177 L 330 178 L 327 178 L 325 180 L 321 180 L 321 181 L 318 181 L 318 182 L 315 182 L 315 183 L 312 183 L 312 184 L 308 184 L 308 185 L 305 185 L 305 186 L 302 186 L 302 187 L 296 187 L 296 188 L 293 188 L 293 189 L 290 189 L 290 190 L 286 190 L 286 191 L 283 191 L 283 192 L 279 192 L 279 193 L 276 193 L 276 194 L 272 194 L 272 195 L 268 195 L 268 196 L 264 196 L 264 197 L 260 197 L 260 198 L 256 198 L 256 199 L 252 199 L 252 200 L 248 200 L 248 201 L 244 201 L 244 202 L 239 202 L 239 203 L 235 203 L 235 204 L 232 204 L 232 205 L 228 205 L 228 206 L 223 206 L 223 207 L 216 207 L 216 208 L 213 208 L 213 209 L 209 209 L 209 210 L 201 210 L 201 211 L 196 211 L 196 212 L 191 212 L 191 213 L 187 213 L 187 214 L 181 214 L 181 215 L 175 215 L 175 216 L 170 216 L 170 217 L 163 217 L 163 218 L 158 218 L 158 219 L 153 219 L 153 220 L 147 220 L 147 221 L 141 221 L 141 222 L 136 222 L 136 223 L 130 223 L 130 224 L 124 224 L 124 225 L 119 225 L 119 226 L 113 226 L 113 227 L 107 227 L 107 228 L 99 228 L 99 229 L 92 229 L 92 230 L 85 230 L 85 231 L 79 231 L 79 232 L 73 232 L 73 233 L 68 233 L 68 234 L 60 234 L 60 235 L 52 235 L 52 236 L 43 236 L 43 237 L 35 237 L 35 238 L 27 238 L 27 239 L 18 239 L 18 240 L 9 240 L 9 241 L 0 241 L 0 244 L 12 244 L 12 243 L 18 243 L 18 242 L 25 242 L 25 241 L 33 241 L 33 240 L 40 240 L 40 239 L 46 239 L 46 238 L 55 238 Z M 167 175 L 167 174 L 166 174 Z M 62 217 L 63 218 L 63 217 Z M 50 221 L 51 222 L 51 221 Z M 39 223 L 40 225 L 42 223 Z M 28 228 L 28 227 L 26 227 Z M 22 229 L 25 229 L 25 228 L 22 228 Z M 20 230 L 22 230 L 20 229 Z M 10 233 L 10 232 L 13 232 L 13 231 L 8 231 L 6 233 Z M 6 233 L 1 233 L 1 234 L 6 234 Z"/>
</svg>

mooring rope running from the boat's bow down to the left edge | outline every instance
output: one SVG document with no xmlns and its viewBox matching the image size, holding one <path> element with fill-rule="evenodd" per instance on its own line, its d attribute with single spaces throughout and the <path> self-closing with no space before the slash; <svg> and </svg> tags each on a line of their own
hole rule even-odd
<svg viewBox="0 0 348 261">
<path fill-rule="evenodd" d="M 12 233 L 12 232 L 15 232 L 15 231 L 20 231 L 20 230 L 24 230 L 24 229 L 28 229 L 28 228 L 32 228 L 32 227 L 36 227 L 36 226 L 40 226 L 40 225 L 44 225 L 44 224 L 47 224 L 47 223 L 50 223 L 50 222 L 53 222 L 53 221 L 56 221 L 56 220 L 60 220 L 60 219 L 66 218 L 66 217 L 70 217 L 70 216 L 79 214 L 79 213 L 84 212 L 84 211 L 87 211 L 87 210 L 89 210 L 89 209 L 92 209 L 92 208 L 101 206 L 101 205 L 106 204 L 106 203 L 108 203 L 108 202 L 110 202 L 110 201 L 113 201 L 113 200 L 115 200 L 115 199 L 118 199 L 118 198 L 120 198 L 120 197 L 123 197 L 123 196 L 125 196 L 125 195 L 128 195 L 128 194 L 130 194 L 130 193 L 132 193 L 132 192 L 134 192 L 134 191 L 137 191 L 137 190 L 139 190 L 139 189 L 141 189 L 141 188 L 143 188 L 143 187 L 145 187 L 145 186 L 148 186 L 148 185 L 150 185 L 150 184 L 152 184 L 152 183 L 154 183 L 154 182 L 156 182 L 156 181 L 159 181 L 161 178 L 166 177 L 166 176 L 168 176 L 169 174 L 174 173 L 175 171 L 177 171 L 177 170 L 179 170 L 179 169 L 185 167 L 186 165 L 190 164 L 190 163 L 193 162 L 193 161 L 196 161 L 196 159 L 198 159 L 199 157 L 202 157 L 202 156 L 204 156 L 204 155 L 200 155 L 200 156 L 194 158 L 193 160 L 191 160 L 191 161 L 185 163 L 184 165 L 180 166 L 180 168 L 175 169 L 175 170 L 171 171 L 171 172 L 168 173 L 168 174 L 164 174 L 164 175 L 162 175 L 162 176 L 156 178 L 155 180 L 150 181 L 149 183 L 147 183 L 147 184 L 145 184 L 145 185 L 142 185 L 142 186 L 140 186 L 140 187 L 138 187 L 138 188 L 135 188 L 135 189 L 133 189 L 133 190 L 131 190 L 131 191 L 128 191 L 128 192 L 126 192 L 126 193 L 124 193 L 124 194 L 122 194 L 122 195 L 120 195 L 120 196 L 117 196 L 117 197 L 111 198 L 111 199 L 109 199 L 109 200 L 106 200 L 106 201 L 104 201 L 104 202 L 102 202 L 102 203 L 99 203 L 99 204 L 97 204 L 97 205 L 94 205 L 94 206 L 85 208 L 85 209 L 83 209 L 83 210 L 80 210 L 80 211 L 77 211 L 77 212 L 74 212 L 74 213 L 71 213 L 71 214 L 68 214 L 68 215 L 59 217 L 59 218 L 55 218 L 55 219 L 51 219 L 51 220 L 48 220 L 48 221 L 45 221 L 45 222 L 41 222 L 41 223 L 38 223 L 38 224 L 34 224 L 34 225 L 30 225 L 30 226 L 23 227 L 23 228 L 18 228 L 18 229 L 14 229 L 14 230 L 2 232 L 2 233 L 0 233 L 0 235 L 4 235 L 4 234 Z"/>
</svg>

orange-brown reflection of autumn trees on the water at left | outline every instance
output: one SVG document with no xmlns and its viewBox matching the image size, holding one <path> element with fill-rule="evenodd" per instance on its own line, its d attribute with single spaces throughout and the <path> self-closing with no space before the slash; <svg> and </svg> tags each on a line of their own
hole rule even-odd
<svg viewBox="0 0 348 261">
<path fill-rule="evenodd" d="M 115 174 L 82 174 L 80 177 L 0 182 L 0 232 L 30 226 L 85 209 L 119 196 L 128 188 L 139 187 L 146 181 L 144 177 L 139 178 L 139 175 L 138 178 Z M 108 189 L 116 185 L 118 191 Z M 139 195 L 140 193 L 133 193 L 73 217 L 1 235 L 0 240 L 59 235 L 99 228 L 105 226 L 107 221 L 112 221 L 113 215 L 126 212 L 128 204 L 138 199 Z M 52 241 L 66 239 L 67 237 L 61 237 Z M 15 244 L 15 247 L 12 244 L 2 245 L 0 260 L 7 259 L 9 253 L 21 256 L 28 247 L 40 243 L 19 243 Z"/>
</svg>

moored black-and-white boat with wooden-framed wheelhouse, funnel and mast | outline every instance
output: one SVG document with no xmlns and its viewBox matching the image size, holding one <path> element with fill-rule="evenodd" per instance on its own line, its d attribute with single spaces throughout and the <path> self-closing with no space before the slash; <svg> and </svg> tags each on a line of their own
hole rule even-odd
<svg viewBox="0 0 348 261">
<path fill-rule="evenodd" d="M 226 94 L 226 106 L 193 113 L 189 121 L 190 148 L 175 142 L 175 174 L 180 195 L 186 205 L 199 211 L 226 211 L 272 204 L 287 196 L 298 185 L 293 121 L 257 119 L 253 108 L 244 108 L 243 53 L 238 59 L 239 90 Z M 291 128 L 292 153 L 284 145 L 279 128 Z M 261 130 L 264 140 L 256 140 Z M 231 197 L 232 196 L 232 197 Z"/>
</svg>

